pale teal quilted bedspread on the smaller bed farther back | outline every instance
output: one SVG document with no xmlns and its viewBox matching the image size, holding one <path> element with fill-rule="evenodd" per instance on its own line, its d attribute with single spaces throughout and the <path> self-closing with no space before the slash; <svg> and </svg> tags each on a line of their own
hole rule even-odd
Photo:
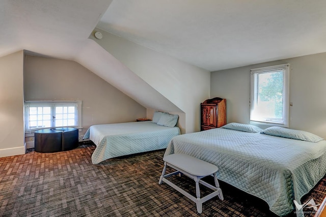
<svg viewBox="0 0 326 217">
<path fill-rule="evenodd" d="M 150 121 L 99 124 L 91 126 L 83 139 L 96 145 L 92 163 L 113 157 L 165 149 L 180 134 L 179 127 L 160 126 Z"/>
</svg>

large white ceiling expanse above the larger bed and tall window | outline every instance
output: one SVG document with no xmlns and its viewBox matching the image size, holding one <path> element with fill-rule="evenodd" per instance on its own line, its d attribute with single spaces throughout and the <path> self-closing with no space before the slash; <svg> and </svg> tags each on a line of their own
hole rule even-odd
<svg viewBox="0 0 326 217">
<path fill-rule="evenodd" d="M 114 0 L 97 27 L 209 71 L 326 51 L 324 0 Z"/>
</svg>

